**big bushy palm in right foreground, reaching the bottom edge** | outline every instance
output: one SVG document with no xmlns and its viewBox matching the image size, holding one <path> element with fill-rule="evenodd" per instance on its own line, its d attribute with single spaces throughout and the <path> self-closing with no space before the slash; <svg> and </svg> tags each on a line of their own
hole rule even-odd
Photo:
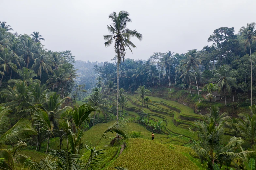
<svg viewBox="0 0 256 170">
<path fill-rule="evenodd" d="M 199 155 L 200 159 L 208 162 L 211 170 L 221 169 L 222 163 L 235 161 L 236 158 L 249 156 L 250 151 L 234 152 L 244 141 L 238 137 L 231 137 L 226 145 L 220 143 L 224 134 L 224 122 L 215 123 L 211 117 L 208 120 L 197 120 L 195 122 L 199 140 L 193 142 L 192 149 Z M 190 129 L 190 131 L 192 131 Z M 221 163 L 218 167 L 216 163 Z M 227 163 L 228 164 L 228 163 Z"/>
</svg>

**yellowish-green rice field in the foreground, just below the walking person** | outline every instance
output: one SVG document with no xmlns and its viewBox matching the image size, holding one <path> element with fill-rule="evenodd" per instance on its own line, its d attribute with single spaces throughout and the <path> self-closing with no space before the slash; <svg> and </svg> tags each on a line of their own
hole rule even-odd
<svg viewBox="0 0 256 170">
<path fill-rule="evenodd" d="M 145 139 L 129 139 L 122 154 L 107 167 L 123 166 L 127 169 L 199 170 L 200 168 L 184 154 L 191 148 L 159 144 Z M 107 168 L 106 167 L 106 168 Z"/>
</svg>

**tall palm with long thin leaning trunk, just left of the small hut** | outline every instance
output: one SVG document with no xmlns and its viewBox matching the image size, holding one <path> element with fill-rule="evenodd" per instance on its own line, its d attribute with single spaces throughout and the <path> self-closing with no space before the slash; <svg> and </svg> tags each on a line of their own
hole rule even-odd
<svg viewBox="0 0 256 170">
<path fill-rule="evenodd" d="M 190 69 L 190 68 L 193 69 L 195 81 L 197 84 L 195 70 L 196 70 L 196 68 L 198 68 L 198 65 L 201 64 L 201 59 L 196 58 L 196 50 L 190 50 L 189 52 L 187 52 L 186 55 L 187 55 L 187 59 L 183 60 L 183 62 L 185 62 L 183 65 L 186 65 L 187 69 Z M 198 93 L 198 101 L 200 103 L 200 95 L 199 95 L 198 85 L 197 85 L 197 93 Z"/>
</svg>

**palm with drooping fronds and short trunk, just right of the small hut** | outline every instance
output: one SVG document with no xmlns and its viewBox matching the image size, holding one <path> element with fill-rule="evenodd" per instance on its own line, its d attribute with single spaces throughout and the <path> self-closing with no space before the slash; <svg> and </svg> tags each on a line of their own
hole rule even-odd
<svg viewBox="0 0 256 170">
<path fill-rule="evenodd" d="M 230 74 L 233 72 L 234 71 L 230 72 Z M 226 93 L 228 92 L 230 94 L 232 92 L 231 86 L 237 88 L 237 85 L 235 84 L 236 78 L 228 77 L 229 73 L 226 65 L 220 67 L 214 76 L 216 78 L 211 78 L 209 81 L 213 81 L 217 84 L 219 89 L 222 91 L 222 94 L 225 96 L 225 105 L 227 106 Z"/>
</svg>

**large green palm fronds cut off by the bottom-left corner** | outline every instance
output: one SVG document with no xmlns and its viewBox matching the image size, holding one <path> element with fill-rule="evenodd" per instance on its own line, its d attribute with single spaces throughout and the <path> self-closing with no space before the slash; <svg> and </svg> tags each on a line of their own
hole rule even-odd
<svg viewBox="0 0 256 170">
<path fill-rule="evenodd" d="M 31 122 L 25 118 L 18 120 L 15 125 L 9 128 L 10 108 L 0 107 L 0 145 L 14 145 L 10 149 L 0 148 L 0 155 L 4 158 L 4 163 L 1 169 L 13 169 L 15 164 L 21 159 L 27 159 L 26 156 L 19 152 L 27 147 L 27 144 L 21 139 L 36 135 L 36 130 L 33 128 Z"/>
</svg>

